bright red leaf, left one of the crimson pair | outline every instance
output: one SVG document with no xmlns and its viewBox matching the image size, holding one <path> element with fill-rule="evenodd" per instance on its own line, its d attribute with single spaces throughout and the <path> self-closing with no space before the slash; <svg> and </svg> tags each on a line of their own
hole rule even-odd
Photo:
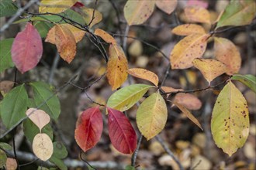
<svg viewBox="0 0 256 170">
<path fill-rule="evenodd" d="M 97 144 L 102 130 L 103 121 L 99 107 L 89 108 L 78 117 L 74 131 L 75 141 L 83 151 L 87 151 Z"/>
</svg>

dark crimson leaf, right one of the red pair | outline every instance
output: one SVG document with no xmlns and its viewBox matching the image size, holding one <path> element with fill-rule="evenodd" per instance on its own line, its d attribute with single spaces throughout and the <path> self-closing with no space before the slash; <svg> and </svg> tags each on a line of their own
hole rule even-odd
<svg viewBox="0 0 256 170">
<path fill-rule="evenodd" d="M 112 145 L 123 154 L 132 154 L 137 147 L 137 135 L 128 118 L 119 110 L 107 107 L 109 138 Z"/>
</svg>

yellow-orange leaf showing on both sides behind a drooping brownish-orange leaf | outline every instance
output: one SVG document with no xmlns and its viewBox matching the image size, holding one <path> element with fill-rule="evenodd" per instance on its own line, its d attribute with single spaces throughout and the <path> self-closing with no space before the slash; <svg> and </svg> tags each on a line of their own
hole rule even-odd
<svg viewBox="0 0 256 170">
<path fill-rule="evenodd" d="M 74 27 L 70 24 L 61 24 L 61 26 L 66 27 L 67 29 L 69 29 L 75 39 L 75 42 L 79 42 L 81 41 L 81 39 L 85 36 L 85 31 L 78 29 L 77 27 Z M 47 33 L 47 38 L 45 39 L 45 42 L 50 42 L 52 44 L 55 44 L 55 28 L 56 26 L 54 26 L 53 28 L 50 29 L 50 31 Z"/>
</svg>

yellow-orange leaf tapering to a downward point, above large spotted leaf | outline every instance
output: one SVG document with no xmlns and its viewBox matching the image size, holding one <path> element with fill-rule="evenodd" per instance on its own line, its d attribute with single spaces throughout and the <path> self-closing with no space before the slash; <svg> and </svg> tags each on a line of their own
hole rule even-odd
<svg viewBox="0 0 256 170">
<path fill-rule="evenodd" d="M 227 72 L 227 66 L 215 59 L 194 59 L 193 64 L 200 70 L 209 84 L 217 76 Z"/>
</svg>

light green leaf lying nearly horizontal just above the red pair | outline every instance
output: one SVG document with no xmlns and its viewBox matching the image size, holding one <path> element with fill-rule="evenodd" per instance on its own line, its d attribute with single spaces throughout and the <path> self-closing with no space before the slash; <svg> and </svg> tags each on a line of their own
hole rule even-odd
<svg viewBox="0 0 256 170">
<path fill-rule="evenodd" d="M 136 104 L 145 93 L 147 93 L 147 90 L 150 87 L 154 86 L 138 83 L 128 87 L 123 87 L 115 93 L 112 93 L 107 102 L 107 107 L 120 111 L 128 110 L 130 107 L 133 107 L 133 105 Z"/>
</svg>

